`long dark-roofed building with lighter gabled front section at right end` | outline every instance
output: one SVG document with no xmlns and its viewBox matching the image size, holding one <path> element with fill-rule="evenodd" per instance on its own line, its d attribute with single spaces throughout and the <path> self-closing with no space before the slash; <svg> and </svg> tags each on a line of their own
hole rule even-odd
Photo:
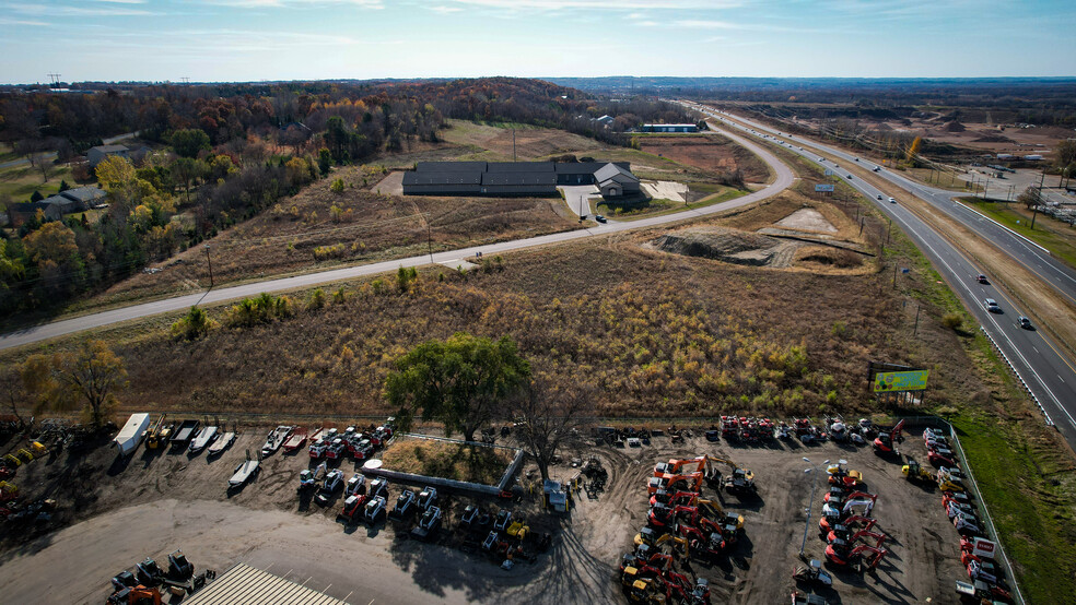
<svg viewBox="0 0 1076 605">
<path fill-rule="evenodd" d="M 634 195 L 627 162 L 419 162 L 405 195 L 555 195 L 558 185 L 595 185 L 607 198 Z"/>
</svg>

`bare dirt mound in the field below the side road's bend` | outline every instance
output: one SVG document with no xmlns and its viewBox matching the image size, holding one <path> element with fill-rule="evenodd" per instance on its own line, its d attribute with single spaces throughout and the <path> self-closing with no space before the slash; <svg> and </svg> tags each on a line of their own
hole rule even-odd
<svg viewBox="0 0 1076 605">
<path fill-rule="evenodd" d="M 752 233 L 706 229 L 663 235 L 654 241 L 654 246 L 658 250 L 686 257 L 763 266 L 772 264 L 788 242 Z"/>
</svg>

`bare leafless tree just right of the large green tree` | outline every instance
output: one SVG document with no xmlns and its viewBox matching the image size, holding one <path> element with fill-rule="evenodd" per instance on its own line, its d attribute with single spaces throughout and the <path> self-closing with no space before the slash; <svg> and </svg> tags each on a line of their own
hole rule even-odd
<svg viewBox="0 0 1076 605">
<path fill-rule="evenodd" d="M 539 378 L 507 407 L 512 416 L 505 419 L 521 423 L 516 435 L 538 464 L 542 479 L 549 478 L 557 451 L 583 435 L 592 399 L 585 391 L 555 390 Z"/>
</svg>

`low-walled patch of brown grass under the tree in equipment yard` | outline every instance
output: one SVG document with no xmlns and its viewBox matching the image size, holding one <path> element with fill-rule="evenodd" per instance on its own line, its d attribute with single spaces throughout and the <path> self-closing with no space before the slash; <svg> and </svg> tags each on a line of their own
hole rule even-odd
<svg viewBox="0 0 1076 605">
<path fill-rule="evenodd" d="M 389 446 L 381 460 L 390 471 L 496 485 L 512 462 L 512 454 L 501 448 L 402 439 Z"/>
</svg>

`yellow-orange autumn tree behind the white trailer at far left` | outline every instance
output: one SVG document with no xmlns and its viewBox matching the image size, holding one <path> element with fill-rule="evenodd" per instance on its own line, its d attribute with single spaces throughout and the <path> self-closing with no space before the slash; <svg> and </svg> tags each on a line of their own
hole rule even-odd
<svg viewBox="0 0 1076 605">
<path fill-rule="evenodd" d="M 20 367 L 34 412 L 63 412 L 83 404 L 91 426 L 104 424 L 115 392 L 127 385 L 124 360 L 104 341 L 87 340 L 74 353 L 31 355 Z"/>
</svg>

